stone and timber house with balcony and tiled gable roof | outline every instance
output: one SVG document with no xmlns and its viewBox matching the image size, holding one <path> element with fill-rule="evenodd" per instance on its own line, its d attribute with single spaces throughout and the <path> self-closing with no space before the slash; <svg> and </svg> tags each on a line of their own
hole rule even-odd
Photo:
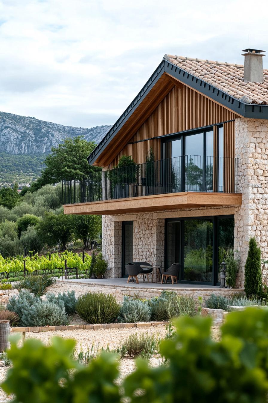
<svg viewBox="0 0 268 403">
<path fill-rule="evenodd" d="M 244 66 L 166 54 L 88 157 L 102 172 L 63 183 L 65 214 L 102 214 L 110 277 L 181 263 L 181 282 L 217 285 L 234 248 L 241 287 L 250 237 L 268 257 L 268 70 L 243 52 Z"/>
</svg>

